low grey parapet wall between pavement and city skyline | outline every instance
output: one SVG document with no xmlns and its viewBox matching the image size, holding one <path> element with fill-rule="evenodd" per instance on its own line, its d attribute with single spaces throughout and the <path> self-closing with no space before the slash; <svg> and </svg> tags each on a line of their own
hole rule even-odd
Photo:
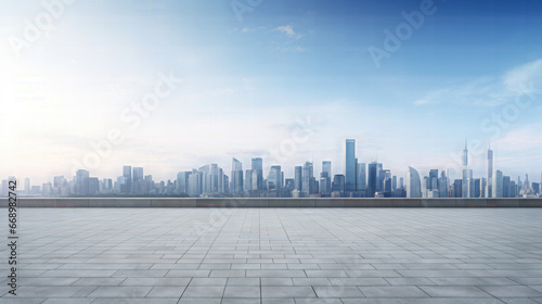
<svg viewBox="0 0 542 304">
<path fill-rule="evenodd" d="M 8 200 L 0 200 L 8 206 Z M 542 207 L 542 199 L 96 199 L 18 198 L 18 207 Z"/>
</svg>

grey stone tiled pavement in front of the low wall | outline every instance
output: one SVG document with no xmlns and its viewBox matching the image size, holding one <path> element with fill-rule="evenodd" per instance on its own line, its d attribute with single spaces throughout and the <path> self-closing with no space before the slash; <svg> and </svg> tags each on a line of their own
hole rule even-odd
<svg viewBox="0 0 542 304">
<path fill-rule="evenodd" d="M 542 303 L 542 208 L 22 208 L 18 219 L 18 295 L 3 279 L 0 303 Z M 5 244 L 0 254 L 5 278 Z"/>
</svg>

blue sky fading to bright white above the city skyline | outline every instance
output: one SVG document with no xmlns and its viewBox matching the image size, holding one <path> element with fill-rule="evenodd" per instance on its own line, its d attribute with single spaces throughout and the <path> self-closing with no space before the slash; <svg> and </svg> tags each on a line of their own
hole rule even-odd
<svg viewBox="0 0 542 304">
<path fill-rule="evenodd" d="M 2 178 L 231 159 L 540 181 L 542 2 L 2 0 Z M 160 97 L 158 97 L 158 94 Z"/>
</svg>

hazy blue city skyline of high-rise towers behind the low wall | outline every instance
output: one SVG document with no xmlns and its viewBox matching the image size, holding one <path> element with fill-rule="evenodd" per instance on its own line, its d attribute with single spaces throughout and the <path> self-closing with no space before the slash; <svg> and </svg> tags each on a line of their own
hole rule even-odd
<svg viewBox="0 0 542 304">
<path fill-rule="evenodd" d="M 320 178 L 314 170 L 314 161 L 296 166 L 294 176 L 287 176 L 281 165 L 263 166 L 262 157 L 253 157 L 250 168 L 243 169 L 243 163 L 232 157 L 231 175 L 219 164 L 207 164 L 199 168 L 179 172 L 176 178 L 160 180 L 144 175 L 143 167 L 122 166 L 122 175 L 116 179 L 91 177 L 89 170 L 78 169 L 76 176 L 67 179 L 54 176 L 53 182 L 31 186 L 24 179 L 27 195 L 86 197 L 86 195 L 190 195 L 190 197 L 233 197 L 233 198 L 532 198 L 541 193 L 541 182 L 531 176 L 514 177 L 493 168 L 493 150 L 487 150 L 486 175 L 474 174 L 469 167 L 467 141 L 462 151 L 460 176 L 450 168 L 430 169 L 421 178 L 412 166 L 406 177 L 390 170 L 383 163 L 365 163 L 356 154 L 356 139 L 345 139 L 343 144 L 343 172 L 333 174 L 331 161 L 322 161 Z M 269 167 L 269 170 L 264 170 Z M 266 178 L 267 176 L 267 178 Z M 459 177 L 459 179 L 455 179 Z M 7 193 L 10 176 L 2 180 L 2 193 Z M 159 180 L 159 179 L 158 179 Z M 406 183 L 404 183 L 406 181 Z M 532 181 L 532 183 L 531 183 Z"/>
</svg>

